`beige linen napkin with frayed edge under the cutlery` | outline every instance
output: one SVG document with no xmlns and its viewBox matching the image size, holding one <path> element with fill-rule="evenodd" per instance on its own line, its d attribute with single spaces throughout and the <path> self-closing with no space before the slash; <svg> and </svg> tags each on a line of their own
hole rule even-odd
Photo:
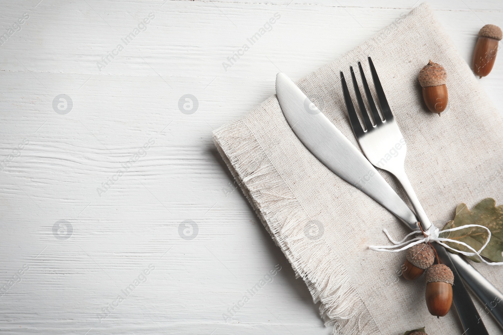
<svg viewBox="0 0 503 335">
<path fill-rule="evenodd" d="M 322 97 L 323 113 L 357 148 L 339 71 L 348 76 L 350 65 L 361 60 L 369 77 L 367 55 L 372 56 L 407 143 L 406 172 L 432 222 L 443 227 L 461 202 L 471 208 L 491 196 L 502 204 L 503 122 L 429 6 L 418 6 L 297 82 L 306 95 Z M 429 59 L 448 73 L 450 110 L 441 117 L 426 111 L 417 82 Z M 402 334 L 422 326 L 433 335 L 463 332 L 453 309 L 440 319 L 430 315 L 423 277 L 406 281 L 399 276 L 404 253 L 367 248 L 388 243 L 383 228 L 396 239 L 409 231 L 302 145 L 276 96 L 213 136 L 272 238 L 305 280 L 314 301 L 321 301 L 320 314 L 334 333 Z M 403 196 L 390 175 L 380 173 Z M 503 268 L 476 267 L 503 289 Z M 489 333 L 501 333 L 490 316 L 483 320 Z"/>
</svg>

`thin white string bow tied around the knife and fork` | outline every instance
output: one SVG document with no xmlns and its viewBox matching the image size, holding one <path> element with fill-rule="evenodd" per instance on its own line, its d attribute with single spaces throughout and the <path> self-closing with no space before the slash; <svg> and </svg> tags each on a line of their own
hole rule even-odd
<svg viewBox="0 0 503 335">
<path fill-rule="evenodd" d="M 485 229 L 487 231 L 487 233 L 489 234 L 489 236 L 487 237 L 487 241 L 485 241 L 485 244 L 482 246 L 482 248 L 480 248 L 479 251 L 476 251 L 475 249 L 473 249 L 472 247 L 470 247 L 469 245 L 467 245 L 464 242 L 456 241 L 456 240 L 451 240 L 451 239 L 445 239 L 445 238 L 439 237 L 440 233 L 454 232 L 454 231 L 459 231 L 460 229 L 470 228 L 470 227 L 481 227 L 481 228 Z M 465 256 L 475 256 L 475 255 L 477 255 L 480 258 L 480 260 L 482 262 L 484 262 L 485 264 L 488 264 L 488 265 L 503 265 L 503 262 L 487 262 L 486 260 L 484 260 L 480 256 L 480 252 L 482 252 L 482 250 L 484 250 L 484 248 L 487 246 L 487 244 L 489 244 L 489 241 L 491 239 L 491 231 L 487 227 L 484 227 L 484 226 L 480 226 L 480 225 L 465 225 L 465 226 L 456 227 L 456 228 L 452 228 L 452 229 L 446 229 L 446 230 L 443 230 L 441 232 L 441 231 L 439 231 L 438 228 L 436 228 L 435 226 L 432 225 L 430 227 L 430 230 L 428 230 L 427 232 L 425 232 L 426 237 L 424 237 L 424 236 L 418 236 L 416 238 L 413 238 L 412 240 L 405 241 L 410 236 L 412 236 L 414 234 L 422 234 L 423 235 L 422 231 L 414 231 L 414 232 L 408 234 L 407 236 L 405 236 L 405 238 L 403 238 L 403 240 L 401 240 L 400 242 L 396 242 L 395 240 L 393 240 L 391 238 L 391 236 L 389 236 L 389 233 L 388 233 L 388 231 L 386 229 L 383 229 L 383 232 L 384 232 L 384 234 L 386 234 L 386 236 L 388 237 L 388 239 L 394 245 L 393 246 L 369 246 L 369 249 L 374 250 L 374 251 L 387 251 L 387 252 L 391 252 L 391 253 L 396 253 L 396 252 L 399 252 L 399 251 L 402 251 L 402 250 L 406 250 L 406 249 L 408 249 L 408 248 L 410 248 L 412 246 L 415 246 L 415 245 L 423 243 L 423 242 L 428 243 L 430 241 L 435 241 L 438 244 L 444 246 L 445 248 L 455 251 L 456 253 L 460 253 L 460 254 L 463 254 Z M 473 252 L 470 253 L 470 252 L 460 251 L 460 250 L 451 248 L 448 245 L 446 245 L 445 243 L 443 243 L 443 241 L 444 242 L 453 242 L 453 243 L 461 244 L 461 245 L 467 247 L 468 249 L 472 250 Z M 401 247 L 401 246 L 405 246 L 405 247 L 397 249 L 397 250 L 390 250 L 390 249 L 398 248 L 398 247 Z"/>
</svg>

